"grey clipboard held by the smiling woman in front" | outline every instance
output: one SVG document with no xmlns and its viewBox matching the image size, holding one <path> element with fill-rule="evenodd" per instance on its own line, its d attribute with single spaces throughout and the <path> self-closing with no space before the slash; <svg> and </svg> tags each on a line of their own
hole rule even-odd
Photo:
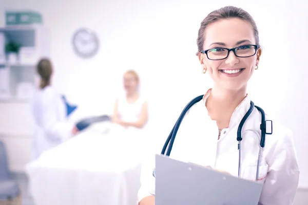
<svg viewBox="0 0 308 205">
<path fill-rule="evenodd" d="M 156 205 L 257 205 L 263 183 L 156 155 Z"/>
</svg>

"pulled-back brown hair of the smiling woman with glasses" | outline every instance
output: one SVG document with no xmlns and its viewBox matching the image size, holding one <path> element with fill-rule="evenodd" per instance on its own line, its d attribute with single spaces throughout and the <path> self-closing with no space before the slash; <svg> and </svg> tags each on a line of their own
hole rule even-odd
<svg viewBox="0 0 308 205">
<path fill-rule="evenodd" d="M 221 19 L 227 19 L 227 18 L 240 18 L 241 20 L 249 22 L 254 29 L 256 44 L 260 47 L 259 31 L 258 31 L 256 22 L 254 21 L 253 17 L 247 11 L 244 11 L 241 8 L 237 8 L 234 6 L 226 6 L 221 9 L 217 9 L 215 11 L 210 12 L 201 22 L 201 26 L 198 32 L 198 39 L 197 39 L 198 53 L 203 50 L 203 43 L 205 40 L 206 27 L 211 23 L 217 22 Z"/>
</svg>

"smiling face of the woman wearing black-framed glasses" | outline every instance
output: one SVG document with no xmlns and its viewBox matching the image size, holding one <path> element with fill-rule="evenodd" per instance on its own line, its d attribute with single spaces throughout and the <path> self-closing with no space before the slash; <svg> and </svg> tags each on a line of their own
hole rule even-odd
<svg viewBox="0 0 308 205">
<path fill-rule="evenodd" d="M 215 17 L 209 14 L 205 20 L 209 21 L 211 18 Z M 206 38 L 204 42 L 199 42 L 197 55 L 203 69 L 208 71 L 219 88 L 242 88 L 243 92 L 246 92 L 247 81 L 259 64 L 262 50 L 259 46 L 258 30 L 252 29 L 256 24 L 248 19 L 243 21 L 241 18 L 228 17 L 215 24 L 208 24 L 206 30 L 204 26 L 200 28 L 203 30 L 203 38 Z M 246 29 L 247 27 L 251 29 Z"/>
</svg>

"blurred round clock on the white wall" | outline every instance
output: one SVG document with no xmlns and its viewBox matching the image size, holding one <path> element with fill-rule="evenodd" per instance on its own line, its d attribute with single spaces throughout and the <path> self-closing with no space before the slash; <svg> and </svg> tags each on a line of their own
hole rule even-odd
<svg viewBox="0 0 308 205">
<path fill-rule="evenodd" d="M 94 57 L 100 47 L 98 36 L 86 28 L 75 31 L 72 44 L 75 53 L 81 58 Z"/>
</svg>

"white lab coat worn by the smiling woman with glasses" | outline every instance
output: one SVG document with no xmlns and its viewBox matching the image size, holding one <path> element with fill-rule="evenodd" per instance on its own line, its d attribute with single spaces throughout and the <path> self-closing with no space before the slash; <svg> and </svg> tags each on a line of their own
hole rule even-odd
<svg viewBox="0 0 308 205">
<path fill-rule="evenodd" d="M 246 97 L 236 108 L 229 127 L 222 130 L 219 140 L 216 121 L 210 119 L 204 103 L 202 100 L 188 110 L 172 146 L 170 158 L 203 166 L 209 165 L 238 176 L 237 129 L 250 107 L 250 100 Z M 273 119 L 266 115 L 266 120 Z M 255 180 L 256 177 L 260 123 L 261 114 L 255 108 L 242 129 L 241 177 L 248 180 Z M 151 164 L 145 166 L 141 176 L 139 201 L 146 196 L 155 195 L 155 178 L 152 176 L 155 156 Z M 273 134 L 266 135 L 260 160 L 259 182 L 263 183 L 263 189 L 259 204 L 293 204 L 298 180 L 299 167 L 293 134 L 290 129 L 273 120 Z"/>
</svg>

